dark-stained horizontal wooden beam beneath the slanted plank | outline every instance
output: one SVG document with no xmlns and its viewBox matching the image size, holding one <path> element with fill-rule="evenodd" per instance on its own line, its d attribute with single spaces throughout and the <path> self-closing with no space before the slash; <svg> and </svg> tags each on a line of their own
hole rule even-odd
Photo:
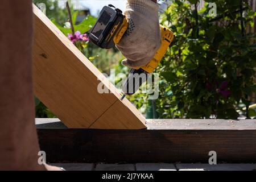
<svg viewBox="0 0 256 182">
<path fill-rule="evenodd" d="M 45 122 L 44 122 L 45 121 Z M 67 129 L 58 120 L 37 122 L 50 163 L 256 162 L 256 120 L 153 119 L 147 130 Z"/>
</svg>

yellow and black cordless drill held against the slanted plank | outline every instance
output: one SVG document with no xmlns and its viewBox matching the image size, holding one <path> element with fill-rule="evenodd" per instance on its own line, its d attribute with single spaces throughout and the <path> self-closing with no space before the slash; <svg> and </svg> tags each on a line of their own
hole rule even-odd
<svg viewBox="0 0 256 182">
<path fill-rule="evenodd" d="M 97 46 L 109 49 L 119 43 L 128 27 L 129 21 L 125 15 L 122 14 L 121 10 L 115 8 L 113 5 L 104 6 L 97 22 L 88 32 L 89 39 Z M 152 73 L 166 54 L 168 47 L 174 39 L 174 33 L 161 25 L 160 29 L 162 34 L 162 44 L 160 48 L 148 64 L 130 70 L 129 76 L 123 84 L 124 94 L 121 100 L 123 100 L 126 95 L 132 95 L 137 92 L 142 85 L 143 78 L 139 79 L 138 82 L 134 82 L 134 80 L 136 80 L 135 77 L 141 77 L 142 74 L 147 75 L 148 73 Z"/>
</svg>

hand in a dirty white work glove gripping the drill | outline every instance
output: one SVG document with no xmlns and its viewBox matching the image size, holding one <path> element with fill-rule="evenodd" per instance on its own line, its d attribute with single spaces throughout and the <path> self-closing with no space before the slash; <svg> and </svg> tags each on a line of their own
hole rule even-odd
<svg viewBox="0 0 256 182">
<path fill-rule="evenodd" d="M 130 67 L 146 65 L 161 46 L 158 19 L 159 6 L 151 0 L 128 0 L 125 15 L 129 28 L 117 48 L 126 57 L 122 64 Z"/>
</svg>

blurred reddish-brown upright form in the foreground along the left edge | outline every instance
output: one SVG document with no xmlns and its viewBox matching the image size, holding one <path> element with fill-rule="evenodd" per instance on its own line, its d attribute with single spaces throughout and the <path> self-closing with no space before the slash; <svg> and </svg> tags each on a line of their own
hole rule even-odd
<svg viewBox="0 0 256 182">
<path fill-rule="evenodd" d="M 45 169 L 38 164 L 32 27 L 32 1 L 1 1 L 0 170 Z"/>
</svg>

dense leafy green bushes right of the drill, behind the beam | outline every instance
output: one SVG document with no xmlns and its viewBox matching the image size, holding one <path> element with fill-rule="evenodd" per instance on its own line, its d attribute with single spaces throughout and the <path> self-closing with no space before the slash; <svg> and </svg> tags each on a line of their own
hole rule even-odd
<svg viewBox="0 0 256 182">
<path fill-rule="evenodd" d="M 253 25 L 254 13 L 247 1 L 215 2 L 216 18 L 209 16 L 207 4 L 197 12 L 196 0 L 173 1 L 162 15 L 175 39 L 157 70 L 160 118 L 236 119 L 239 105 L 250 105 L 256 90 L 256 35 L 246 34 L 245 27 Z"/>
</svg>

